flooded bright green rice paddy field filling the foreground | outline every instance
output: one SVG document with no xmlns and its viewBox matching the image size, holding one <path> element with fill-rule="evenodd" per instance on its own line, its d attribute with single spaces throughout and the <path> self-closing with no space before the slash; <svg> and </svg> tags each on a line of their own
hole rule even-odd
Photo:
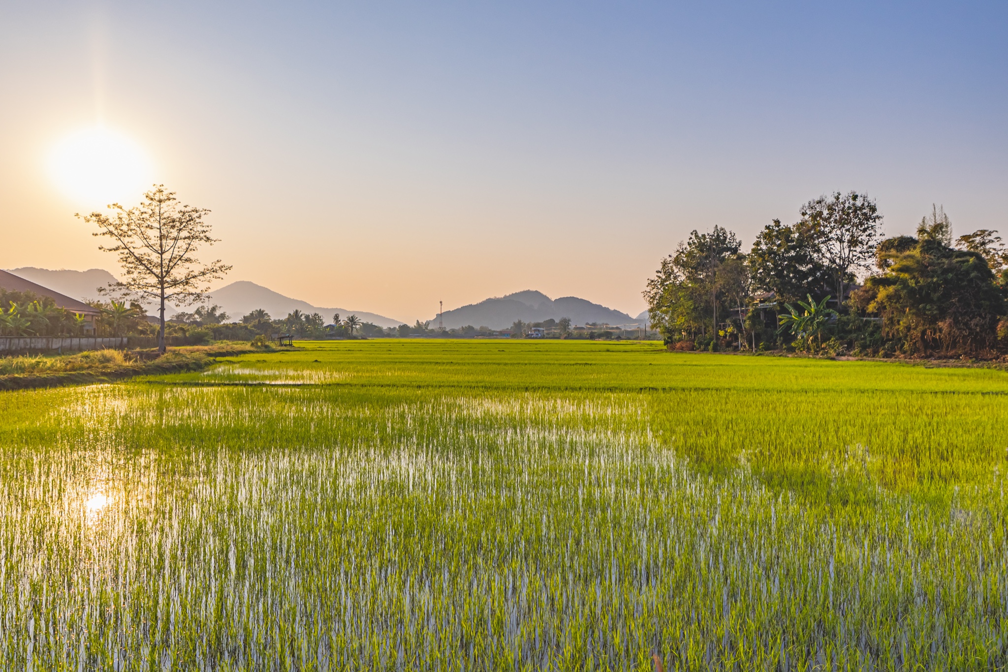
<svg viewBox="0 0 1008 672">
<path fill-rule="evenodd" d="M 1008 666 L 1005 373 L 297 345 L 0 393 L 0 669 Z"/>
</svg>

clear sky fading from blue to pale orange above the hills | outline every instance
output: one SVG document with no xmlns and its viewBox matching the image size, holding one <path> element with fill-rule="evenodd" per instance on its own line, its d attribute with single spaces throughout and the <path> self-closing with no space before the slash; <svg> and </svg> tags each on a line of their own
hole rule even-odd
<svg viewBox="0 0 1008 672">
<path fill-rule="evenodd" d="M 1004 2 L 5 2 L 0 268 L 117 272 L 74 214 L 153 182 L 226 282 L 410 323 L 636 315 L 691 230 L 837 190 L 1008 238 L 1006 34 Z"/>
</svg>

